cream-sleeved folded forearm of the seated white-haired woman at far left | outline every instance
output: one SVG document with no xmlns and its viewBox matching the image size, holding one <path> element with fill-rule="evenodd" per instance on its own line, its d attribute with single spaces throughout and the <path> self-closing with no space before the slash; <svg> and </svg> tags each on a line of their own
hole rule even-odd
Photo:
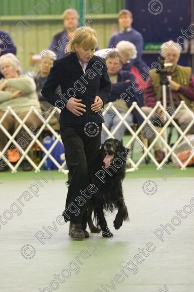
<svg viewBox="0 0 194 292">
<path fill-rule="evenodd" d="M 36 91 L 36 83 L 29 76 L 19 78 L 9 78 L 7 86 L 21 90 L 24 93 L 30 94 Z"/>
</svg>

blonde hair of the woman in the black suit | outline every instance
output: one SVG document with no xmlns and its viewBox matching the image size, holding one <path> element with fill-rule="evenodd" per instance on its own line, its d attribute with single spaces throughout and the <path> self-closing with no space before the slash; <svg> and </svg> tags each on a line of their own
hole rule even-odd
<svg viewBox="0 0 194 292">
<path fill-rule="evenodd" d="M 75 45 L 79 48 L 96 48 L 97 34 L 91 27 L 78 27 L 74 33 L 72 40 L 67 43 L 65 52 L 75 53 Z"/>
</svg>

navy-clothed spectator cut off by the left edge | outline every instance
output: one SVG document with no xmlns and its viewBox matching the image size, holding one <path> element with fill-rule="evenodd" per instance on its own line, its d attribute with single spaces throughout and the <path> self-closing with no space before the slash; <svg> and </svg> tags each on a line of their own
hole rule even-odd
<svg viewBox="0 0 194 292">
<path fill-rule="evenodd" d="M 16 55 L 16 46 L 14 45 L 14 42 L 10 35 L 5 31 L 0 30 L 0 56 L 8 53 L 13 53 L 14 55 Z M 1 78 L 3 78 L 3 75 L 0 72 L 0 79 Z"/>
</svg>

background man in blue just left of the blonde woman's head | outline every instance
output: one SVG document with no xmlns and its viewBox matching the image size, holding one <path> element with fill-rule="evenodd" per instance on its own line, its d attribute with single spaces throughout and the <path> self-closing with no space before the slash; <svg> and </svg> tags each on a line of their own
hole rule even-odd
<svg viewBox="0 0 194 292">
<path fill-rule="evenodd" d="M 73 34 L 78 27 L 78 12 L 75 9 L 67 9 L 63 13 L 64 30 L 57 33 L 49 46 L 49 49 L 56 52 L 57 59 L 63 58 L 66 54 L 67 43 L 73 38 Z"/>
</svg>

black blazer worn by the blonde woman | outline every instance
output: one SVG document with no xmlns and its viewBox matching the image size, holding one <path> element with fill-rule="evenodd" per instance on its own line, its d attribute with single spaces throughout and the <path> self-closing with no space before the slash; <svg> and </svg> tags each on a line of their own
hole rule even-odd
<svg viewBox="0 0 194 292">
<path fill-rule="evenodd" d="M 62 94 L 56 94 L 59 85 Z M 49 103 L 61 109 L 59 120 L 61 124 L 85 125 L 88 122 L 97 124 L 104 122 L 100 112 L 95 113 L 91 110 L 91 105 L 96 95 L 105 104 L 110 91 L 111 82 L 104 59 L 93 56 L 84 74 L 76 54 L 71 53 L 54 61 L 41 93 Z M 66 109 L 65 105 L 71 97 L 82 99 L 81 103 L 86 105 L 86 112 L 83 115 L 78 117 Z"/>
</svg>

